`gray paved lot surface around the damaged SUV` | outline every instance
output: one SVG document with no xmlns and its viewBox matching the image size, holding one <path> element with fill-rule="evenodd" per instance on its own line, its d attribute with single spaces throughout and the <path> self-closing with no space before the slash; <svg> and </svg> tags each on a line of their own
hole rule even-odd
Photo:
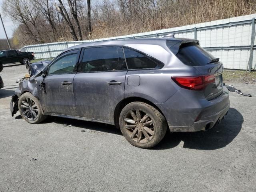
<svg viewBox="0 0 256 192">
<path fill-rule="evenodd" d="M 0 74 L 0 191 L 256 191 L 256 84 L 234 83 L 252 97 L 230 93 L 229 114 L 215 128 L 168 133 L 145 150 L 110 125 L 11 117 L 10 96 L 26 72 L 12 65 Z"/>
</svg>

